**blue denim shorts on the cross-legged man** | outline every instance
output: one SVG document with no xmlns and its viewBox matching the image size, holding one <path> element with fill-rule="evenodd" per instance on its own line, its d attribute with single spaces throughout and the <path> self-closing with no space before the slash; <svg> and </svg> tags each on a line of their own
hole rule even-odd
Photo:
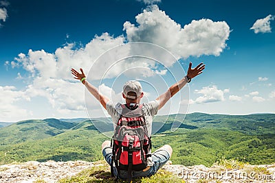
<svg viewBox="0 0 275 183">
<path fill-rule="evenodd" d="M 102 154 L 109 165 L 111 165 L 112 147 L 104 147 Z M 166 162 L 168 162 L 170 156 L 165 149 L 157 149 L 152 154 L 153 166 L 148 167 L 142 171 L 133 171 L 133 178 L 148 177 L 157 173 Z M 113 173 L 115 176 L 118 175 L 117 169 L 114 167 Z M 119 178 L 126 179 L 128 171 L 120 171 Z"/>
</svg>

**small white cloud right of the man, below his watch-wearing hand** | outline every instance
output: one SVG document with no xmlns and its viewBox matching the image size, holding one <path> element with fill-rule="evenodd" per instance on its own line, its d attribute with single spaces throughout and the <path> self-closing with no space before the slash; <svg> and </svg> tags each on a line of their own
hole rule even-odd
<svg viewBox="0 0 275 183">
<path fill-rule="evenodd" d="M 195 93 L 202 94 L 203 96 L 198 97 L 192 103 L 209 103 L 215 101 L 224 101 L 224 91 L 219 90 L 217 86 L 206 86 L 201 90 L 195 90 Z"/>
</svg>

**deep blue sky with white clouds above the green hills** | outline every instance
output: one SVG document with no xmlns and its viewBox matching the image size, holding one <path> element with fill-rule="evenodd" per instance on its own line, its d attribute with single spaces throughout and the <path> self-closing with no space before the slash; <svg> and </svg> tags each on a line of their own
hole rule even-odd
<svg viewBox="0 0 275 183">
<path fill-rule="evenodd" d="M 168 70 L 179 80 L 188 62 L 206 69 L 159 114 L 274 113 L 272 0 L 0 2 L 0 121 L 104 115 L 72 78 L 72 67 L 83 67 L 113 101 L 122 101 L 121 82 L 143 80 L 149 101 L 175 81 Z M 164 47 L 177 60 L 159 59 L 168 70 L 152 60 L 123 60 L 100 82 L 96 76 L 115 61 L 96 59 L 134 41 Z"/>
</svg>

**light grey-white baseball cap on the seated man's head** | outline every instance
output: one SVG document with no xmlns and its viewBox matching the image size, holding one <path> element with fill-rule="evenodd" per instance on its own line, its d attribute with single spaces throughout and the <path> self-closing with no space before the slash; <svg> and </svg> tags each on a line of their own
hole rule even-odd
<svg viewBox="0 0 275 183">
<path fill-rule="evenodd" d="M 133 92 L 137 96 L 128 95 L 129 92 Z M 140 95 L 142 94 L 142 85 L 140 84 L 140 82 L 137 82 L 136 80 L 130 80 L 124 84 L 123 94 L 126 98 L 136 99 L 136 97 L 140 97 Z"/>
</svg>

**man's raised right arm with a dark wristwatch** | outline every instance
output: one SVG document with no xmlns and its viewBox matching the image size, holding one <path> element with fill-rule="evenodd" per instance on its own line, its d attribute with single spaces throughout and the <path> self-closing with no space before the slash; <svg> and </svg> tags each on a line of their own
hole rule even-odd
<svg viewBox="0 0 275 183">
<path fill-rule="evenodd" d="M 161 109 L 171 97 L 173 97 L 179 90 L 181 90 L 181 88 L 183 88 L 187 82 L 190 82 L 192 78 L 201 74 L 206 65 L 200 63 L 195 67 L 195 69 L 192 69 L 191 67 L 192 62 L 189 63 L 187 75 L 176 84 L 173 84 L 173 86 L 170 86 L 166 93 L 163 93 L 162 95 L 159 95 L 159 97 L 157 97 L 156 100 L 159 100 L 159 109 Z"/>
</svg>

